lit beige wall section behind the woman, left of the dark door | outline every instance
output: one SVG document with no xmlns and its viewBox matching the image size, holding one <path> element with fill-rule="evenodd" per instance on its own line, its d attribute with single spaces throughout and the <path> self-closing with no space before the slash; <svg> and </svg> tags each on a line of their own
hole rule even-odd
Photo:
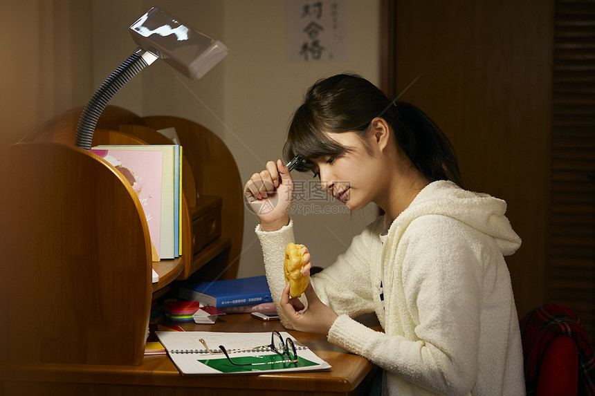
<svg viewBox="0 0 595 396">
<path fill-rule="evenodd" d="M 347 1 L 349 60 L 346 62 L 291 63 L 286 52 L 284 1 L 226 1 L 226 42 L 230 55 L 225 64 L 226 142 L 239 160 L 244 180 L 280 158 L 286 126 L 315 80 L 353 70 L 378 83 L 378 1 Z M 250 18 L 246 18 L 250 15 Z M 311 176 L 294 172 L 300 185 Z M 304 209 L 333 202 L 305 202 Z M 345 209 L 342 204 L 340 209 Z M 339 209 L 335 207 L 333 209 Z M 332 263 L 351 238 L 376 214 L 376 209 L 350 214 L 294 214 L 295 238 L 306 244 L 313 265 Z M 372 215 L 372 217 L 370 216 Z M 255 239 L 257 217 L 246 213 L 244 252 L 239 275 L 262 273 L 262 253 Z"/>
</svg>

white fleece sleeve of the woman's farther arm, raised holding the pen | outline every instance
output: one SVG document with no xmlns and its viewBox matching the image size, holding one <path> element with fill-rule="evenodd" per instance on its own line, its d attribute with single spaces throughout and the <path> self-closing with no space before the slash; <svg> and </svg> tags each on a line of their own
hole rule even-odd
<svg viewBox="0 0 595 396">
<path fill-rule="evenodd" d="M 263 232 L 257 226 L 256 234 L 262 246 L 264 269 L 268 286 L 271 288 L 271 296 L 275 305 L 278 305 L 286 284 L 283 274 L 285 247 L 294 241 L 293 220 L 290 220 L 289 225 L 274 232 Z M 310 278 L 320 300 L 338 314 L 354 317 L 374 310 L 372 286 L 369 281 L 370 255 L 365 242 L 365 239 L 369 238 L 368 234 L 369 231 L 365 231 L 356 236 L 347 252 L 338 256 L 336 263 Z M 315 258 L 313 258 L 313 265 L 316 265 Z M 307 306 L 303 295 L 302 301 Z M 282 312 L 280 312 L 280 319 L 286 328 L 291 328 L 291 324 L 283 317 Z"/>
</svg>

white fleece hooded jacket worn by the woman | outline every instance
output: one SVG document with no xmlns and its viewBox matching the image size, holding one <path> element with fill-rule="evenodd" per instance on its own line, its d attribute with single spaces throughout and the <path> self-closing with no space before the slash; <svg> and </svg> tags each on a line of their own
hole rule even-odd
<svg viewBox="0 0 595 396">
<path fill-rule="evenodd" d="M 378 218 L 336 263 L 311 276 L 316 294 L 339 314 L 329 341 L 383 368 L 384 395 L 524 395 L 503 257 L 520 238 L 505 211 L 503 200 L 432 182 L 392 224 Z M 256 232 L 278 304 L 293 222 Z M 376 312 L 384 332 L 352 319 L 365 312 Z"/>
</svg>

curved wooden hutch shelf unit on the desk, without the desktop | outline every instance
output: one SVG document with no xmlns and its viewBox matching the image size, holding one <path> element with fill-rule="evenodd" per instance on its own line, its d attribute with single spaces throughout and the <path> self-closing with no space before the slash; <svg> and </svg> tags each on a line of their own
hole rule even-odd
<svg viewBox="0 0 595 396">
<path fill-rule="evenodd" d="M 237 274 L 237 257 L 232 265 L 229 258 L 241 248 L 242 186 L 223 142 L 188 120 L 156 116 L 155 126 L 147 126 L 129 111 L 104 110 L 93 146 L 172 144 L 156 125 L 183 129 L 182 254 L 153 263 L 147 220 L 129 182 L 98 155 L 74 146 L 81 112 L 59 115 L 10 146 L 10 169 L 0 170 L 0 185 L 10 191 L 0 197 L 0 225 L 9 231 L 0 238 L 0 316 L 7 321 L 0 326 L 6 345 L 0 362 L 141 364 L 155 294 L 198 270 Z M 220 172 L 196 168 L 201 162 L 188 155 L 208 158 Z M 220 183 L 221 175 L 228 182 Z M 197 191 L 214 198 L 197 199 Z M 195 249 L 194 232 L 217 215 L 219 225 L 227 219 L 228 232 L 206 227 L 209 238 L 201 234 Z"/>
</svg>

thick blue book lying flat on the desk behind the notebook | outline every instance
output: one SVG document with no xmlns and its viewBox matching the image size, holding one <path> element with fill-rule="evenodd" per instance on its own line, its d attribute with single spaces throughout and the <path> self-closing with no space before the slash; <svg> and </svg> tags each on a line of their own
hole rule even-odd
<svg viewBox="0 0 595 396">
<path fill-rule="evenodd" d="M 181 285 L 178 296 L 180 299 L 199 301 L 217 308 L 273 301 L 264 275 Z"/>
</svg>

